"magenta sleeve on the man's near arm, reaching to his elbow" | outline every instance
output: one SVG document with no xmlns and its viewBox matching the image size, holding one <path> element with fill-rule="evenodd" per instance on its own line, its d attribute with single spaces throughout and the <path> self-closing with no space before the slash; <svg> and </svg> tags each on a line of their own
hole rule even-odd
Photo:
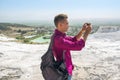
<svg viewBox="0 0 120 80">
<path fill-rule="evenodd" d="M 63 50 L 81 50 L 85 46 L 85 41 L 80 39 L 79 41 L 71 41 L 69 39 L 59 37 L 55 38 L 55 45 Z"/>
</svg>

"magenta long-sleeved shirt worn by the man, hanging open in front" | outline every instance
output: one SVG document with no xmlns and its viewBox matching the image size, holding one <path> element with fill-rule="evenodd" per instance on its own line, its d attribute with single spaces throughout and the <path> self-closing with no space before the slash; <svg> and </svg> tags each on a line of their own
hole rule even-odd
<svg viewBox="0 0 120 80">
<path fill-rule="evenodd" d="M 83 39 L 77 41 L 76 37 L 66 36 L 65 33 L 62 33 L 57 29 L 55 30 L 54 34 L 54 56 L 56 57 L 57 61 L 61 61 L 63 57 L 63 50 L 66 51 L 64 55 L 65 65 L 69 75 L 72 75 L 74 66 L 72 64 L 70 50 L 81 50 L 85 46 L 85 41 Z"/>
</svg>

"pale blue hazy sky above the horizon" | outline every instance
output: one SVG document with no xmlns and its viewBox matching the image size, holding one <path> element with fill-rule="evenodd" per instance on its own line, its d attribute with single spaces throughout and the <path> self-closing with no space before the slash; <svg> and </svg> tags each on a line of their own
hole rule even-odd
<svg viewBox="0 0 120 80">
<path fill-rule="evenodd" d="M 69 19 L 120 19 L 120 0 L 0 0 L 0 22 Z"/>
</svg>

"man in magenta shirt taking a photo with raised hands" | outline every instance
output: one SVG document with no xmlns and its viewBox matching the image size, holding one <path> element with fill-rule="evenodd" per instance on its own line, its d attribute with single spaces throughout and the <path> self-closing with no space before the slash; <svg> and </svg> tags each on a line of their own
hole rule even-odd
<svg viewBox="0 0 120 80">
<path fill-rule="evenodd" d="M 67 18 L 68 17 L 65 14 L 59 14 L 54 18 L 56 29 L 54 31 L 53 51 L 57 61 L 61 61 L 63 59 L 63 51 L 65 51 L 64 62 L 69 74 L 68 80 L 71 80 L 74 66 L 72 64 L 70 50 L 81 50 L 85 46 L 85 41 L 88 34 L 91 32 L 91 24 L 85 23 L 75 37 L 70 37 L 65 34 L 69 28 Z"/>
</svg>

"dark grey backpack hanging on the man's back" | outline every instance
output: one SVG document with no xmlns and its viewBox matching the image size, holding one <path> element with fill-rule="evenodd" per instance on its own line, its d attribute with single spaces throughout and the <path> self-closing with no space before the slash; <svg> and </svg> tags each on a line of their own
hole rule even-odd
<svg viewBox="0 0 120 80">
<path fill-rule="evenodd" d="M 47 52 L 41 57 L 42 61 L 40 69 L 42 71 L 43 78 L 45 80 L 67 80 L 68 72 L 66 70 L 64 60 L 61 62 L 55 61 L 52 51 L 53 41 L 54 35 L 51 37 L 51 42 Z"/>
</svg>

